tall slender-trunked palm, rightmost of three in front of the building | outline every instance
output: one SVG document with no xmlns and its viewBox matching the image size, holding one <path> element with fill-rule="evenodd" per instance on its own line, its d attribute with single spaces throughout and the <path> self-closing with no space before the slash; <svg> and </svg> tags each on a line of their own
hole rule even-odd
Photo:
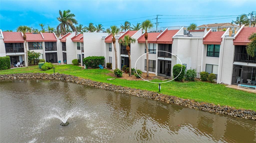
<svg viewBox="0 0 256 143">
<path fill-rule="evenodd" d="M 149 76 L 149 73 L 148 73 L 149 60 L 148 60 L 148 45 L 147 45 L 148 34 L 147 34 L 147 30 L 152 29 L 153 27 L 154 27 L 154 24 L 149 19 L 147 19 L 147 20 L 145 20 L 141 23 L 141 28 L 143 30 L 145 30 L 144 37 L 145 37 L 145 41 L 146 41 L 146 52 L 147 52 L 147 76 Z"/>
</svg>

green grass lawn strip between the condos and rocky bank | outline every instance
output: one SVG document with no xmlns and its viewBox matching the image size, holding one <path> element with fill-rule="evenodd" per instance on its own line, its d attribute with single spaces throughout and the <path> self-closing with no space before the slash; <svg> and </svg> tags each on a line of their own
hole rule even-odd
<svg viewBox="0 0 256 143">
<path fill-rule="evenodd" d="M 0 74 L 15 73 L 53 73 L 53 69 L 42 71 L 37 66 L 29 66 L 28 68 L 14 68 L 0 71 Z M 109 70 L 99 69 L 83 69 L 73 65 L 55 65 L 55 72 L 61 74 L 69 74 L 94 81 L 112 83 L 124 87 L 137 88 L 149 91 L 158 91 L 158 84 L 146 81 L 130 81 L 124 79 L 107 80 L 112 78 L 106 75 Z M 163 82 L 153 80 L 155 82 Z M 225 87 L 223 84 L 213 84 L 208 82 L 176 82 L 170 81 L 161 84 L 161 93 L 174 95 L 186 99 L 194 99 L 198 102 L 209 102 L 220 105 L 228 105 L 236 108 L 252 109 L 256 111 L 256 94 L 245 91 L 235 90 Z"/>
</svg>

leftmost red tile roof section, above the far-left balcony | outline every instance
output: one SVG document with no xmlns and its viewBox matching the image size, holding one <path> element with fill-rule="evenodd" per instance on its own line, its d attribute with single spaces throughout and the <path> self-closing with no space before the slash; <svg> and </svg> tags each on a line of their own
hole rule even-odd
<svg viewBox="0 0 256 143">
<path fill-rule="evenodd" d="M 21 32 L 3 32 L 5 43 L 24 43 Z"/>
</svg>

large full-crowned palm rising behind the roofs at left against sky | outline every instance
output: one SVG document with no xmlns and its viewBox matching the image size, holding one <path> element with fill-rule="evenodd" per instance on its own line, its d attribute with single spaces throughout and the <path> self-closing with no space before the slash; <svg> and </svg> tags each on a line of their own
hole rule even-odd
<svg viewBox="0 0 256 143">
<path fill-rule="evenodd" d="M 70 13 L 71 11 L 63 10 L 63 13 L 61 10 L 59 10 L 59 17 L 57 18 L 60 22 L 60 24 L 57 26 L 57 32 L 61 33 L 62 35 L 67 34 L 68 32 L 66 29 L 69 29 L 69 27 L 77 32 L 76 27 L 73 24 L 78 24 L 77 20 L 74 19 L 75 15 L 73 13 Z"/>
</svg>

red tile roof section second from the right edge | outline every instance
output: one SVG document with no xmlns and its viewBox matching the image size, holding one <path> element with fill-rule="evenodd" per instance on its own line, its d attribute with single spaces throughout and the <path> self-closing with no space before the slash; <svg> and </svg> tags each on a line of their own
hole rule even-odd
<svg viewBox="0 0 256 143">
<path fill-rule="evenodd" d="M 215 44 L 220 45 L 222 38 L 221 36 L 225 33 L 225 31 L 217 31 L 212 32 L 210 31 L 204 38 L 203 44 Z"/>
</svg>

